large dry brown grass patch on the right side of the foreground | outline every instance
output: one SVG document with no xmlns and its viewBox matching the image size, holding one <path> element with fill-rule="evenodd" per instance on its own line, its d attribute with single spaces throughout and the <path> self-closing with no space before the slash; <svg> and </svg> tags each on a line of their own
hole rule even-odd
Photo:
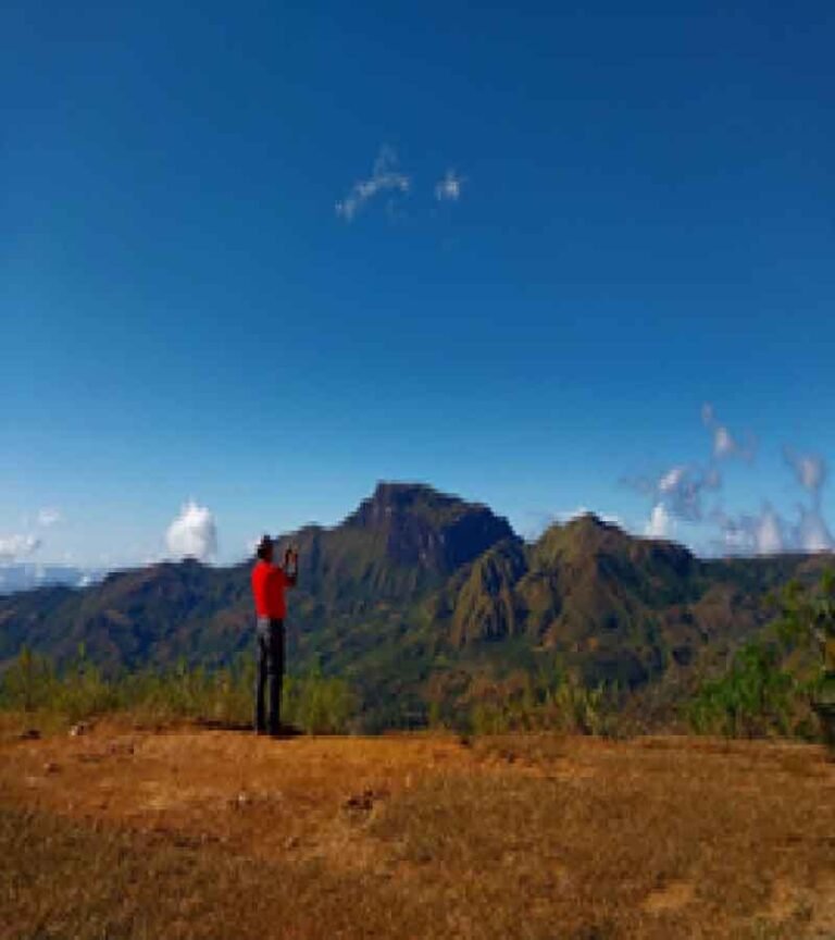
<svg viewBox="0 0 835 940">
<path fill-rule="evenodd" d="M 425 780 L 372 832 L 403 846 L 426 903 L 453 898 L 509 936 L 835 936 L 822 753 L 795 749 L 787 770 L 782 747 L 688 744 L 478 742 L 493 772 Z M 797 899 L 780 917 L 775 885 Z"/>
</svg>

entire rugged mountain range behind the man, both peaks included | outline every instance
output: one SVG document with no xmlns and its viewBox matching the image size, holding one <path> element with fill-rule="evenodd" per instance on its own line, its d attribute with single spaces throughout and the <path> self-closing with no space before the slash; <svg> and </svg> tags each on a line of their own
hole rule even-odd
<svg viewBox="0 0 835 940">
<path fill-rule="evenodd" d="M 827 560 L 700 560 L 593 515 L 526 544 L 486 506 L 403 483 L 279 552 L 291 543 L 292 668 L 346 677 L 370 729 L 420 721 L 429 701 L 454 716 L 479 689 L 557 663 L 636 693 L 686 679 L 762 629 L 770 590 Z M 110 668 L 228 661 L 251 644 L 249 571 L 165 562 L 0 598 L 0 663 L 23 644 L 65 660 L 82 642 Z"/>
</svg>

